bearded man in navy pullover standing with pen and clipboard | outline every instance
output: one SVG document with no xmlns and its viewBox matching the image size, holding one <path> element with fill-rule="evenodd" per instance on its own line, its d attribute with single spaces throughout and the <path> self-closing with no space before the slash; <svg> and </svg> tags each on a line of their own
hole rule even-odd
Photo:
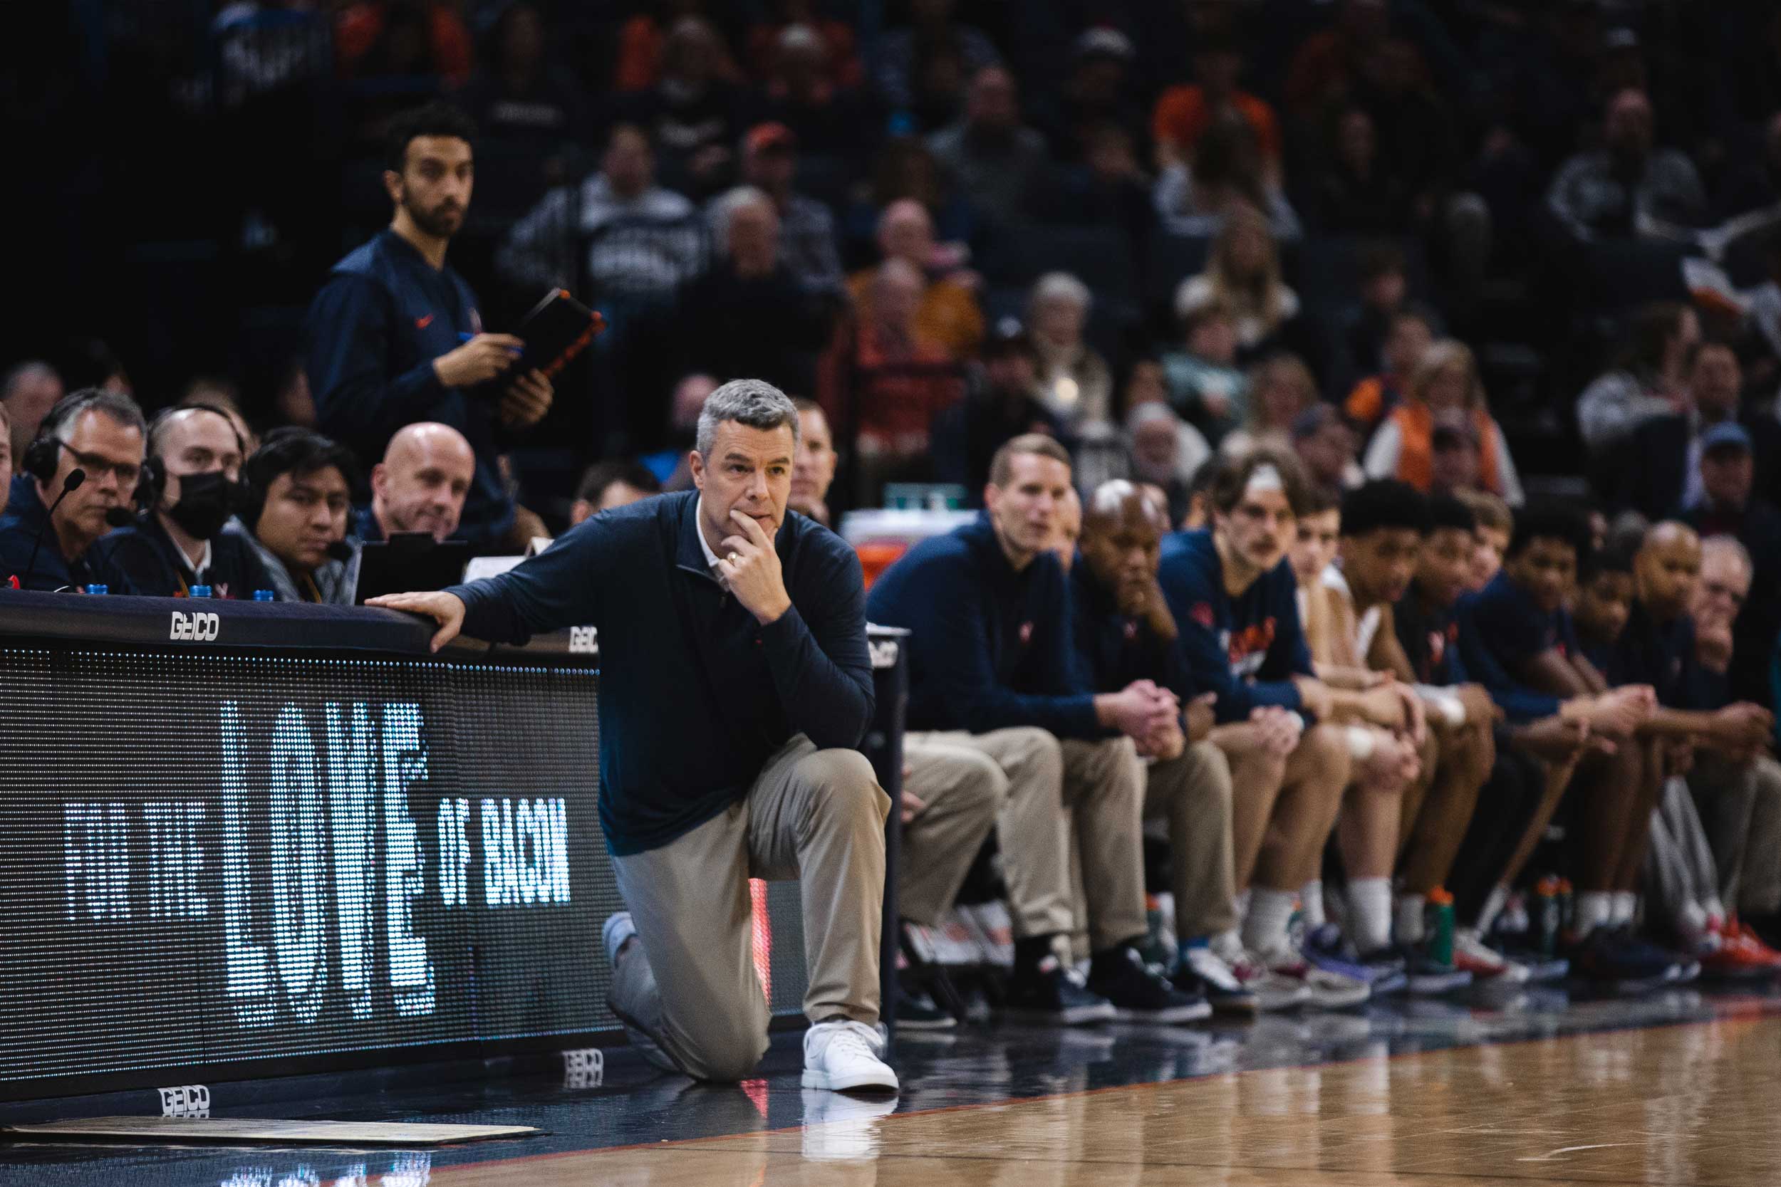
<svg viewBox="0 0 1781 1187">
<path fill-rule="evenodd" d="M 306 368 L 315 427 L 360 457 L 381 457 L 419 420 L 461 432 L 476 452 L 476 480 L 459 536 L 500 552 L 515 543 L 500 452 L 509 432 L 543 418 L 552 390 L 536 370 L 513 372 L 525 343 L 483 333 L 476 294 L 445 263 L 470 206 L 474 135 L 470 119 L 443 103 L 395 117 L 383 173 L 395 215 L 335 263 L 315 294 Z"/>
</svg>

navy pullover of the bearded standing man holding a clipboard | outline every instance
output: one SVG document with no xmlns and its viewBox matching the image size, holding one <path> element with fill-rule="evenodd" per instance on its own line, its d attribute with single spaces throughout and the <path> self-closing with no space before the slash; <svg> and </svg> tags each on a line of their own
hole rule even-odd
<svg viewBox="0 0 1781 1187">
<path fill-rule="evenodd" d="M 433 359 L 483 331 L 476 294 L 449 265 L 435 271 L 390 230 L 349 253 L 310 304 L 306 370 L 317 429 L 349 445 L 369 468 L 403 425 L 436 420 L 476 450 L 476 477 L 458 536 L 490 545 L 513 527 L 495 457 L 502 443 L 493 399 L 447 388 Z"/>
</svg>

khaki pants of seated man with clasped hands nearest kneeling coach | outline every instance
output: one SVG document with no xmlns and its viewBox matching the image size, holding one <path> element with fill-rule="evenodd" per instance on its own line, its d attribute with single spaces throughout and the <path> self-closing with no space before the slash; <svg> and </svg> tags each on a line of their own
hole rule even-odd
<svg viewBox="0 0 1781 1187">
<path fill-rule="evenodd" d="M 905 755 L 931 747 L 987 755 L 1006 779 L 996 838 L 1015 936 L 1067 936 L 1074 931 L 1072 833 L 1083 868 L 1092 947 L 1111 949 L 1143 936 L 1145 772 L 1131 739 L 1058 742 L 1038 728 L 990 733 L 944 730 L 903 739 Z M 915 794 L 921 795 L 919 790 Z M 905 844 L 905 865 L 923 860 L 919 849 Z"/>
</svg>

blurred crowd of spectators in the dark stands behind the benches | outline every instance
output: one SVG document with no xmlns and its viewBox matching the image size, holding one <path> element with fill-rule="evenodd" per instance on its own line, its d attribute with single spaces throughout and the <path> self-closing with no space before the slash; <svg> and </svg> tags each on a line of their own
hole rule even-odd
<svg viewBox="0 0 1781 1187">
<path fill-rule="evenodd" d="M 1587 479 L 1651 514 L 1703 498 L 1622 479 L 1646 424 L 1722 415 L 1696 345 L 1731 347 L 1706 383 L 1740 416 L 1781 383 L 1781 18 L 1760 4 L 249 0 L 180 30 L 194 61 L 173 20 L 94 36 L 119 43 L 105 84 L 199 126 L 189 169 L 228 176 L 191 201 L 233 292 L 192 308 L 237 333 L 59 317 L 7 345 L 23 440 L 50 384 L 128 386 L 139 351 L 148 408 L 196 388 L 370 461 L 399 425 L 317 390 L 338 375 L 306 310 L 385 222 L 390 123 L 429 100 L 470 117 L 447 263 L 481 320 L 513 329 L 549 287 L 607 320 L 500 434 L 499 473 L 479 463 L 481 495 L 550 527 L 593 461 L 671 484 L 677 386 L 732 375 L 826 411 L 837 509 L 885 482 L 974 502 L 996 445 L 1040 427 L 1085 484 L 1154 480 L 1177 509 L 1206 457 L 1297 441 L 1339 484 L 1514 504 Z M 167 247 L 118 222 L 126 254 Z"/>
</svg>

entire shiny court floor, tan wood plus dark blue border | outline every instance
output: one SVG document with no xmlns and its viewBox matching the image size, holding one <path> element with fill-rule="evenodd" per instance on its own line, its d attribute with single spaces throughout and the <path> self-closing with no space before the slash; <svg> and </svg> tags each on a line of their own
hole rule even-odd
<svg viewBox="0 0 1781 1187">
<path fill-rule="evenodd" d="M 1777 991 L 1541 991 L 1204 1029 L 967 1027 L 905 1034 L 894 1062 L 894 1103 L 803 1091 L 794 1032 L 737 1087 L 659 1075 L 622 1048 L 598 1087 L 467 1068 L 217 1084 L 216 1116 L 545 1134 L 431 1151 L 11 1143 L 0 1183 L 1781 1183 Z M 9 1105 L 4 1119 L 82 1107 L 132 1110 L 94 1098 Z"/>
</svg>

